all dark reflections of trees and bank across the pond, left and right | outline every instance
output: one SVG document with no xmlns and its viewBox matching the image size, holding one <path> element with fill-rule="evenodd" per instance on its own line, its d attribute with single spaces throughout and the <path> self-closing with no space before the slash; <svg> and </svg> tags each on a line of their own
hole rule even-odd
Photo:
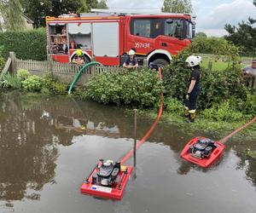
<svg viewBox="0 0 256 213">
<path fill-rule="evenodd" d="M 137 138 L 142 138 L 150 124 L 152 120 L 138 118 Z M 173 155 L 170 158 L 175 158 L 179 164 L 179 167 L 175 168 L 179 176 L 188 175 L 190 170 L 207 172 L 183 161 L 179 153 L 195 135 L 204 135 L 212 139 L 218 139 L 218 135 L 202 132 L 184 134 L 187 133 L 186 128 L 189 126 L 176 127 L 161 121 L 150 136 L 150 141 L 162 143 L 172 151 Z M 125 116 L 123 109 L 118 107 L 73 101 L 67 97 L 47 98 L 38 95 L 27 97 L 17 93 L 2 95 L 0 97 L 0 199 L 40 199 L 40 191 L 44 185 L 55 184 L 58 146 L 71 146 L 75 141 L 73 138 L 79 135 L 132 138 L 132 115 Z M 245 150 L 245 144 L 238 145 L 229 143 L 225 153 L 228 154 L 230 149 L 236 152 L 241 158 L 237 168 L 244 169 L 247 179 L 256 186 L 255 160 L 246 158 L 241 152 Z M 252 148 L 253 144 L 251 143 L 250 146 Z M 218 164 L 216 168 L 218 169 Z"/>
</svg>

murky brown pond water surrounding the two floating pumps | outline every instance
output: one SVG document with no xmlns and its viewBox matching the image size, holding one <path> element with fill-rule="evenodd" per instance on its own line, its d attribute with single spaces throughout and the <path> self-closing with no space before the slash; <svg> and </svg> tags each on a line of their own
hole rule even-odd
<svg viewBox="0 0 256 213">
<path fill-rule="evenodd" d="M 141 138 L 153 120 L 138 115 Z M 208 170 L 179 153 L 195 134 L 189 124 L 161 122 L 137 151 L 137 167 L 121 201 L 96 199 L 79 187 L 99 158 L 133 147 L 133 118 L 118 107 L 67 97 L 0 95 L 0 213 L 256 212 L 253 141 L 227 143 Z M 127 164 L 133 164 L 133 158 Z"/>
</svg>

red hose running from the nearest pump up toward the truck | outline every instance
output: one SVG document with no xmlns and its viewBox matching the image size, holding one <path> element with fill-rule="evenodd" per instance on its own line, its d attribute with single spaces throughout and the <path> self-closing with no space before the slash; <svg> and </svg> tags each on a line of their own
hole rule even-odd
<svg viewBox="0 0 256 213">
<path fill-rule="evenodd" d="M 158 69 L 158 75 L 159 75 L 159 78 L 162 79 L 161 68 Z M 160 95 L 160 109 L 159 109 L 157 118 L 154 120 L 154 123 L 151 125 L 151 127 L 148 130 L 148 132 L 143 136 L 143 138 L 140 141 L 137 142 L 136 150 L 139 147 L 141 147 L 143 145 L 143 143 L 148 139 L 149 135 L 152 134 L 156 124 L 158 124 L 158 122 L 159 122 L 159 120 L 161 118 L 161 115 L 162 115 L 162 112 L 163 112 L 163 106 L 164 106 L 164 95 L 163 95 L 163 93 L 161 93 L 161 95 Z M 121 164 L 124 164 L 126 160 L 131 158 L 131 156 L 133 155 L 133 151 L 134 150 L 131 149 L 128 153 L 125 154 L 125 157 L 123 157 L 120 160 Z"/>
</svg>

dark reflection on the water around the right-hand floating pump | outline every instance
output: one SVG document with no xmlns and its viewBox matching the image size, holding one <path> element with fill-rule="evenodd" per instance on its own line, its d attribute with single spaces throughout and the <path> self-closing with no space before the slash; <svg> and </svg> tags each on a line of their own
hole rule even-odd
<svg viewBox="0 0 256 213">
<path fill-rule="evenodd" d="M 187 134 L 184 134 L 187 133 Z M 243 133 L 241 132 L 241 135 Z M 200 170 L 201 172 L 206 173 L 209 170 L 218 170 L 221 166 L 221 162 L 224 160 L 224 156 L 228 156 L 230 150 L 236 150 L 236 155 L 241 158 L 241 162 L 238 164 L 237 168 L 242 168 L 246 170 L 247 178 L 252 180 L 253 185 L 256 187 L 256 168 L 255 168 L 255 159 L 247 158 L 245 150 L 251 148 L 256 150 L 255 143 L 253 141 L 237 141 L 236 138 L 231 138 L 225 144 L 224 155 L 221 158 L 212 164 L 210 169 L 200 168 L 195 164 L 191 164 L 184 159 L 180 158 L 179 153 L 183 150 L 183 147 L 195 136 L 205 136 L 212 140 L 218 141 L 218 133 L 205 132 L 203 130 L 189 130 L 189 125 L 175 126 L 173 124 L 166 124 L 161 122 L 156 126 L 156 129 L 153 132 L 153 135 L 150 136 L 151 142 L 162 142 L 164 145 L 170 147 L 170 149 L 175 153 L 174 158 L 177 159 L 178 164 L 180 165 L 177 168 L 178 175 L 187 175 L 190 170 Z M 254 144 L 254 145 L 253 145 Z"/>
</svg>

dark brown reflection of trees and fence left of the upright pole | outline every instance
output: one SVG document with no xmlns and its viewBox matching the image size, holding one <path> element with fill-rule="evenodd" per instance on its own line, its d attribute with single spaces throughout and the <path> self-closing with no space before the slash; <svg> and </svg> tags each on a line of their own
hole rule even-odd
<svg viewBox="0 0 256 213">
<path fill-rule="evenodd" d="M 119 109 L 110 112 L 108 107 L 66 97 L 15 92 L 2 95 L 0 107 L 0 199 L 4 200 L 40 199 L 44 184 L 55 183 L 57 145 L 70 146 L 74 136 L 119 138 L 133 133 L 131 118 L 120 118 Z"/>
</svg>

